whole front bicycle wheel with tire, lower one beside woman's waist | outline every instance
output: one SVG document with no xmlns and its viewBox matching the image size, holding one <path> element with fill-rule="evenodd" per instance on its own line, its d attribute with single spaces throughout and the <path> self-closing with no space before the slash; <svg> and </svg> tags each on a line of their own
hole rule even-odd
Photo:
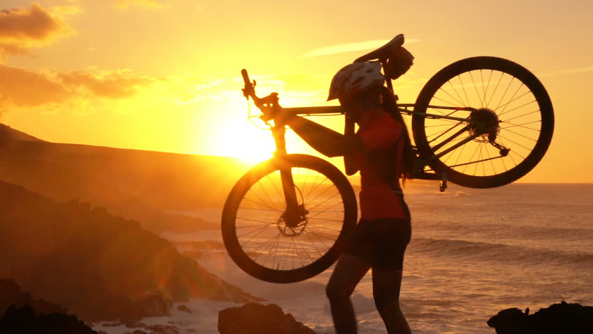
<svg viewBox="0 0 593 334">
<path fill-rule="evenodd" d="M 290 170 L 302 218 L 287 223 L 280 169 Z M 338 259 L 356 228 L 358 209 L 349 181 L 317 157 L 288 154 L 249 170 L 230 192 L 223 241 L 246 273 L 271 283 L 306 280 Z"/>
</svg>

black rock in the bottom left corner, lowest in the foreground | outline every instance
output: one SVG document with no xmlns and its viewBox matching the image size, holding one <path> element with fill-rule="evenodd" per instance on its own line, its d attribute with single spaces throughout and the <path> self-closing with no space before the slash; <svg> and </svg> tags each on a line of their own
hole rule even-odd
<svg viewBox="0 0 593 334">
<path fill-rule="evenodd" d="M 10 334 L 97 334 L 74 315 L 35 315 L 31 306 L 10 305 L 0 319 L 0 333 Z"/>
</svg>

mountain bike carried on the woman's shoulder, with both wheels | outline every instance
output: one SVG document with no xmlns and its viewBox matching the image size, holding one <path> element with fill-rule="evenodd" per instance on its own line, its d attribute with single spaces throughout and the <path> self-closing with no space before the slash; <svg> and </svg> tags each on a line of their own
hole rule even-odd
<svg viewBox="0 0 593 334">
<path fill-rule="evenodd" d="M 393 90 L 391 79 L 402 73 L 390 73 L 390 57 L 403 43 L 403 35 L 397 35 L 356 61 L 380 61 Z M 246 70 L 242 75 L 244 96 L 269 121 L 280 108 L 278 94 L 257 97 L 255 81 Z M 441 191 L 448 181 L 491 188 L 518 180 L 544 157 L 554 127 L 550 97 L 537 77 L 491 56 L 444 67 L 427 81 L 416 103 L 398 104 L 398 109 L 411 116 L 418 166 L 413 178 L 440 180 Z M 284 110 L 301 116 L 344 114 L 340 106 Z M 356 228 L 357 202 L 338 168 L 318 157 L 287 154 L 285 127 L 269 125 L 274 157 L 232 188 L 223 208 L 222 235 L 230 257 L 246 273 L 271 283 L 294 283 L 338 259 Z"/>
</svg>

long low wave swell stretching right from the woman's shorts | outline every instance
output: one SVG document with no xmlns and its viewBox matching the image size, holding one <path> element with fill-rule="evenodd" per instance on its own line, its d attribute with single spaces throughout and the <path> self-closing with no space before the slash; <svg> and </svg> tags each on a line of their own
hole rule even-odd
<svg viewBox="0 0 593 334">
<path fill-rule="evenodd" d="M 512 264 L 593 264 L 592 253 L 570 253 L 455 239 L 416 238 L 411 241 L 408 249 L 413 253 Z"/>
</svg>

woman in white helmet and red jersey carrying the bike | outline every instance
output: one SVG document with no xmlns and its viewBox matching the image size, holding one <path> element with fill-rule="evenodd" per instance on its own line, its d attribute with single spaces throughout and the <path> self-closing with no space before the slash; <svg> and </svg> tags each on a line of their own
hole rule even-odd
<svg viewBox="0 0 593 334">
<path fill-rule="evenodd" d="M 409 177 L 413 154 L 395 97 L 384 83 L 379 62 L 352 63 L 335 74 L 328 100 L 339 99 L 345 109 L 344 135 L 281 109 L 274 117 L 322 154 L 344 156 L 348 175 L 361 173 L 361 220 L 326 287 L 338 334 L 356 333 L 349 297 L 369 269 L 374 302 L 388 333 L 411 333 L 399 302 L 411 237 L 400 179 Z M 359 127 L 356 134 L 354 123 Z"/>
</svg>

